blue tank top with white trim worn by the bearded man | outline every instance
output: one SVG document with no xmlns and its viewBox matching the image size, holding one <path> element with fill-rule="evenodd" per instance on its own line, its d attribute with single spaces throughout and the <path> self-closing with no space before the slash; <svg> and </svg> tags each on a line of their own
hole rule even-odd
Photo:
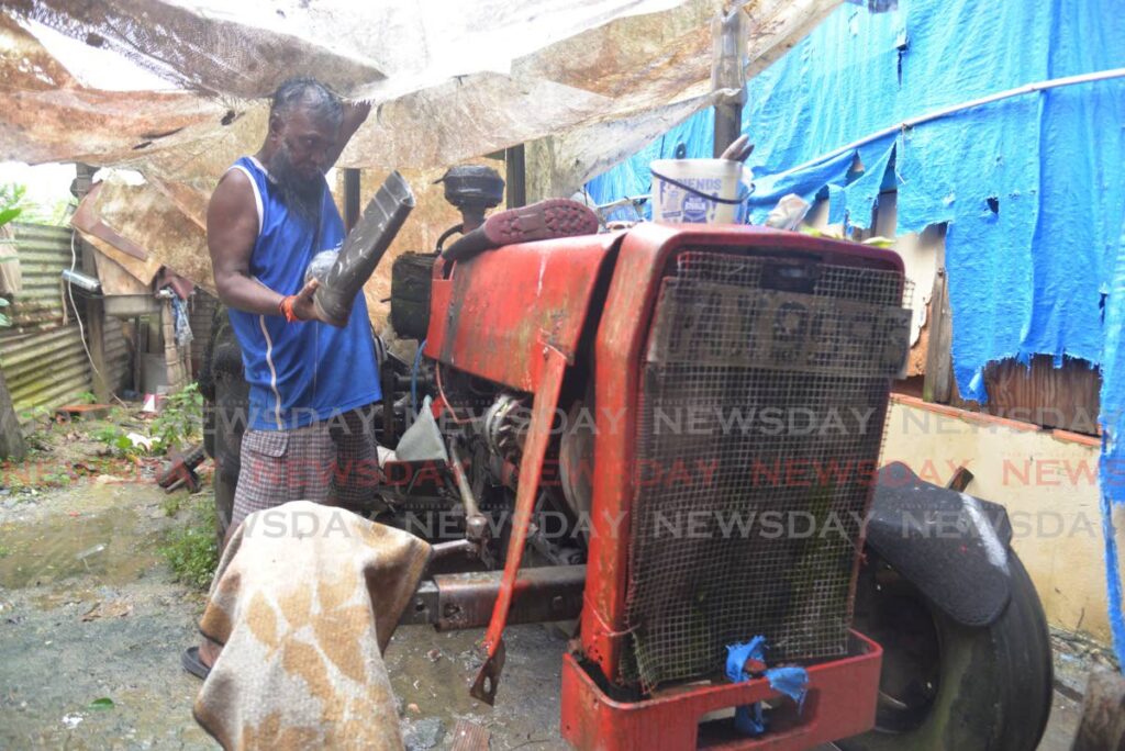
<svg viewBox="0 0 1125 751">
<path fill-rule="evenodd" d="M 305 270 L 322 250 L 339 250 L 343 221 L 324 183 L 316 227 L 291 211 L 269 173 L 252 156 L 231 168 L 250 178 L 258 208 L 258 241 L 250 274 L 281 295 L 305 286 Z M 356 296 L 344 328 L 318 322 L 286 323 L 230 309 L 250 383 L 249 426 L 259 431 L 304 427 L 381 398 L 379 367 L 363 292 Z"/>
</svg>

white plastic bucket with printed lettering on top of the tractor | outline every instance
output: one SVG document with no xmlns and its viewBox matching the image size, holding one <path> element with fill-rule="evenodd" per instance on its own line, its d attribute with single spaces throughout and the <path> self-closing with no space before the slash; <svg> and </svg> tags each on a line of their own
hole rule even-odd
<svg viewBox="0 0 1125 751">
<path fill-rule="evenodd" d="M 754 190 L 754 173 L 724 159 L 663 159 L 652 172 L 652 221 L 732 224 Z"/>
</svg>

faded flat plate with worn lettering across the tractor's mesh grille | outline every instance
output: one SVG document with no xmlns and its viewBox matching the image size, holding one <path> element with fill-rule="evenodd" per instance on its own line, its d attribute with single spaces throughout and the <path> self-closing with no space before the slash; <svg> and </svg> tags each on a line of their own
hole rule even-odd
<svg viewBox="0 0 1125 751">
<path fill-rule="evenodd" d="M 894 377 L 910 351 L 909 309 L 667 279 L 648 361 Z"/>
</svg>

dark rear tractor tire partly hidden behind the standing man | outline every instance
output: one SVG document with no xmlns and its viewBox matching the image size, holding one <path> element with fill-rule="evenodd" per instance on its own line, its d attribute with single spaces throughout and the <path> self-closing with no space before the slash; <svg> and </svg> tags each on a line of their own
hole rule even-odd
<svg viewBox="0 0 1125 751">
<path fill-rule="evenodd" d="M 215 310 L 210 341 L 204 352 L 200 391 L 208 399 L 204 449 L 215 460 L 215 532 L 222 544 L 234 512 L 234 489 L 242 468 L 242 434 L 246 429 L 250 400 L 250 386 L 243 378 L 242 349 L 231 328 L 226 307 L 222 305 Z"/>
</svg>

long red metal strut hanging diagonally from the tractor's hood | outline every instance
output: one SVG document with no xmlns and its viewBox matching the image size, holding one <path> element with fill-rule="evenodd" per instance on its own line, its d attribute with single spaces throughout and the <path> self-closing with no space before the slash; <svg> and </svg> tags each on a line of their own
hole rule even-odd
<svg viewBox="0 0 1125 751">
<path fill-rule="evenodd" d="M 562 390 L 562 376 L 566 373 L 566 355 L 551 346 L 543 347 L 542 379 L 536 399 L 531 406 L 531 423 L 528 426 L 528 442 L 523 449 L 523 460 L 520 462 L 520 487 L 515 494 L 515 514 L 512 517 L 512 535 L 507 544 L 507 560 L 504 561 L 504 576 L 501 580 L 500 596 L 493 607 L 492 621 L 485 633 L 484 649 L 486 659 L 469 694 L 487 704 L 496 699 L 496 687 L 504 669 L 504 626 L 512 607 L 512 595 L 515 591 L 516 577 L 523 562 L 523 549 L 528 541 L 528 526 L 531 523 L 536 498 L 539 497 L 539 481 L 543 471 L 543 459 L 551 437 L 551 423 L 558 406 L 559 392 Z"/>
</svg>

